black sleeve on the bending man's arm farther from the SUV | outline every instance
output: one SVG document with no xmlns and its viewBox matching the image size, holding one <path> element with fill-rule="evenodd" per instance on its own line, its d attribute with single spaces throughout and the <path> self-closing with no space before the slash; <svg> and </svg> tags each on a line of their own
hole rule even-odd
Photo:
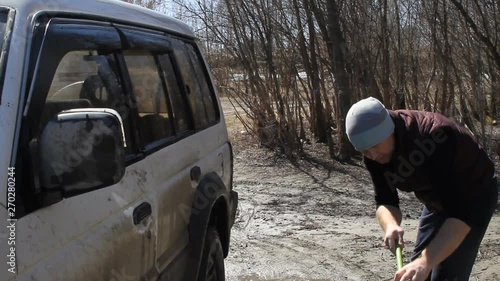
<svg viewBox="0 0 500 281">
<path fill-rule="evenodd" d="M 435 149 L 430 153 L 425 166 L 434 192 L 441 200 L 442 207 L 448 217 L 456 218 L 467 225 L 474 223 L 474 206 L 468 202 L 460 183 L 457 182 L 455 154 L 457 139 L 449 128 L 440 128 L 442 141 L 434 141 Z"/>
</svg>

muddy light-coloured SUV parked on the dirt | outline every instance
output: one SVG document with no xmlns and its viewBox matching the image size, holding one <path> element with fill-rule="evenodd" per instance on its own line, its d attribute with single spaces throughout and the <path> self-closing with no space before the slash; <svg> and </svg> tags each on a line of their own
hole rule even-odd
<svg viewBox="0 0 500 281">
<path fill-rule="evenodd" d="M 192 30 L 0 2 L 0 280 L 224 280 L 232 149 Z"/>
</svg>

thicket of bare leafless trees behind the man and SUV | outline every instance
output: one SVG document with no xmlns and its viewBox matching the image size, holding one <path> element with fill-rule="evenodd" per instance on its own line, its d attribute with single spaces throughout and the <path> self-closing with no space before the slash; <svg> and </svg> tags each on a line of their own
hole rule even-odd
<svg viewBox="0 0 500 281">
<path fill-rule="evenodd" d="M 479 135 L 498 117 L 498 1 L 175 2 L 246 128 L 289 157 L 314 138 L 349 159 L 345 115 L 367 96 L 442 112 Z"/>
</svg>

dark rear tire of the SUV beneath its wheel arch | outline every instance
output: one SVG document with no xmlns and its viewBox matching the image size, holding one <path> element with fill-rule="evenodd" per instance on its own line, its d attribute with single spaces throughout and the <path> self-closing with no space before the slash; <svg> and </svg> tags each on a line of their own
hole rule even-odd
<svg viewBox="0 0 500 281">
<path fill-rule="evenodd" d="M 224 252 L 219 233 L 209 226 L 205 236 L 198 281 L 224 281 Z"/>
</svg>

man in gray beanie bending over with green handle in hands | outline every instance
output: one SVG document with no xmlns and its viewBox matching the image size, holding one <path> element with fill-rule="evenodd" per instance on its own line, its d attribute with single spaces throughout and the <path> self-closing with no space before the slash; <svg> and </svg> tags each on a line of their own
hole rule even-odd
<svg viewBox="0 0 500 281">
<path fill-rule="evenodd" d="M 394 280 L 469 280 L 498 200 L 494 164 L 474 136 L 440 114 L 387 110 L 371 97 L 351 107 L 346 130 L 363 153 L 393 253 L 404 244 L 398 191 L 423 203 L 412 261 Z"/>
</svg>

